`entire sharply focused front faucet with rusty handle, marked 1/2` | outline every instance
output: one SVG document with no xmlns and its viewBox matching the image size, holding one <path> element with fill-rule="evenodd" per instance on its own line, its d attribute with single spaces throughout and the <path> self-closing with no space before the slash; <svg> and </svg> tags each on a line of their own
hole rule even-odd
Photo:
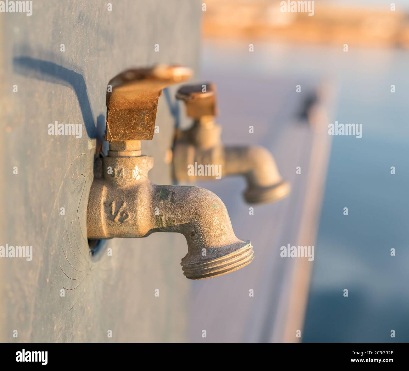
<svg viewBox="0 0 409 371">
<path fill-rule="evenodd" d="M 95 164 L 87 234 L 88 239 L 108 239 L 182 233 L 188 245 L 181 262 L 184 275 L 203 279 L 249 264 L 252 245 L 234 235 L 216 194 L 199 187 L 152 184 L 148 171 L 153 158 L 141 154 L 141 141 L 153 137 L 162 89 L 190 75 L 185 67 L 157 65 L 128 70 L 110 81 L 105 138 L 109 151 Z"/>
</svg>

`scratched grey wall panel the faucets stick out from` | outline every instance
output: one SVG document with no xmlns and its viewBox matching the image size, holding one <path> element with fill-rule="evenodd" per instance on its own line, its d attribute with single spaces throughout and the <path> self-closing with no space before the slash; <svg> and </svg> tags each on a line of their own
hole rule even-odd
<svg viewBox="0 0 409 371">
<path fill-rule="evenodd" d="M 0 246 L 33 247 L 31 261 L 0 259 L 0 341 L 183 341 L 184 237 L 113 239 L 91 256 L 85 217 L 108 81 L 154 63 L 196 68 L 200 3 L 111 1 L 112 11 L 96 0 L 33 3 L 32 16 L 0 15 Z M 160 133 L 142 143 L 155 157 L 154 183 L 171 183 L 164 157 L 175 89 L 160 98 Z M 81 138 L 47 134 L 55 121 L 82 124 Z"/>
</svg>

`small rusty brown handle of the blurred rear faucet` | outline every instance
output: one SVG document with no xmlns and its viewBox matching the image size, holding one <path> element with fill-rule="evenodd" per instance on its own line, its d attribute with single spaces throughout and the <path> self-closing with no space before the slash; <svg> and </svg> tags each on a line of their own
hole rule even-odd
<svg viewBox="0 0 409 371">
<path fill-rule="evenodd" d="M 187 116 L 199 120 L 203 116 L 216 116 L 216 86 L 213 83 L 183 85 L 176 99 L 184 101 Z"/>
</svg>

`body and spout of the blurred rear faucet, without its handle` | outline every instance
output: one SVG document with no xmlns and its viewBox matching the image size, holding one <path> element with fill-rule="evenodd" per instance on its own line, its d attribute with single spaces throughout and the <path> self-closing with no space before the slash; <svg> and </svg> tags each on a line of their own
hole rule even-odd
<svg viewBox="0 0 409 371">
<path fill-rule="evenodd" d="M 193 164 L 209 171 L 192 174 L 188 169 Z M 223 145 L 220 126 L 216 123 L 196 123 L 188 130 L 179 131 L 173 146 L 172 165 L 173 177 L 178 181 L 243 175 L 247 181 L 243 196 L 248 203 L 278 201 L 291 191 L 290 183 L 281 177 L 270 151 L 261 146 Z M 220 171 L 212 173 L 213 169 Z"/>
</svg>

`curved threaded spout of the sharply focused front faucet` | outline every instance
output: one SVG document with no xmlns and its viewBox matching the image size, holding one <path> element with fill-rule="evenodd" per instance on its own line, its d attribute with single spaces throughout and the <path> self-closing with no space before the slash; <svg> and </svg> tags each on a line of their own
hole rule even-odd
<svg viewBox="0 0 409 371">
<path fill-rule="evenodd" d="M 153 185 L 152 196 L 157 215 L 147 235 L 184 235 L 188 252 L 181 265 L 187 278 L 215 277 L 252 261 L 250 241 L 234 235 L 226 207 L 213 192 L 200 187 Z"/>
</svg>

